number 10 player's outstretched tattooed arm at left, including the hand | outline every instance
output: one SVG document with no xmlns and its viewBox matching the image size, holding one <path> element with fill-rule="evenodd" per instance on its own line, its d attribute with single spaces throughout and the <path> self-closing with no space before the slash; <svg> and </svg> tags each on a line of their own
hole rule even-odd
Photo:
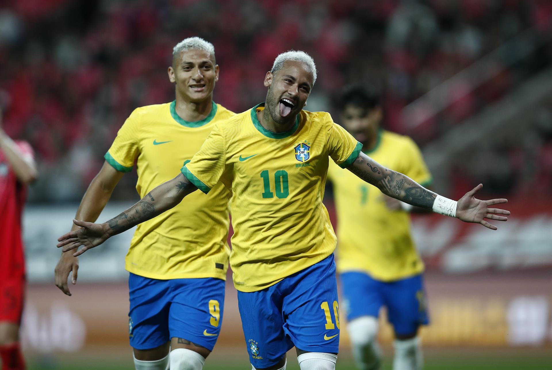
<svg viewBox="0 0 552 370">
<path fill-rule="evenodd" d="M 176 178 L 157 186 L 134 206 L 107 222 L 98 224 L 73 219 L 73 223 L 82 228 L 58 238 L 57 241 L 60 243 L 57 244 L 57 247 L 63 246 L 63 251 L 66 252 L 83 245 L 81 250 L 73 254 L 74 256 L 81 255 L 88 249 L 102 244 L 113 235 L 120 234 L 139 223 L 161 215 L 195 190 L 197 190 L 195 185 L 190 183 L 183 174 L 178 174 Z"/>
</svg>

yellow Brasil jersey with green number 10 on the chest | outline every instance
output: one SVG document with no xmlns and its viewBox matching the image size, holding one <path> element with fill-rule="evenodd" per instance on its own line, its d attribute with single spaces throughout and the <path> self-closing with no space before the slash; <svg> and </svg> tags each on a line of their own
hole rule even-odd
<svg viewBox="0 0 552 370">
<path fill-rule="evenodd" d="M 209 193 L 232 190 L 230 266 L 236 289 L 254 292 L 333 253 L 322 204 L 329 157 L 347 167 L 362 145 L 326 112 L 301 111 L 287 132 L 261 126 L 263 103 L 217 124 L 182 173 Z M 214 189 L 214 188 L 213 188 Z"/>
</svg>

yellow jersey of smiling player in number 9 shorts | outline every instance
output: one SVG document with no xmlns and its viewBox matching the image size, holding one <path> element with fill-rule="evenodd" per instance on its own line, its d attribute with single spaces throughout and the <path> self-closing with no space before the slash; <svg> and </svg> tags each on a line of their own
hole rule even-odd
<svg viewBox="0 0 552 370">
<path fill-rule="evenodd" d="M 122 172 L 130 171 L 136 161 L 140 197 L 173 179 L 216 123 L 234 115 L 213 103 L 208 117 L 188 122 L 178 116 L 175 105 L 173 101 L 135 109 L 105 154 L 107 162 Z M 155 279 L 226 279 L 229 199 L 228 189 L 217 184 L 208 196 L 194 192 L 171 210 L 139 224 L 126 254 L 126 270 Z"/>
</svg>

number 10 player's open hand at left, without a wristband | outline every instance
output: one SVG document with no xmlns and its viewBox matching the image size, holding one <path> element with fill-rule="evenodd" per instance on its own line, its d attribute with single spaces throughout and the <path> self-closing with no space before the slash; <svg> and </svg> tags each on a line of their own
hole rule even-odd
<svg viewBox="0 0 552 370">
<path fill-rule="evenodd" d="M 68 232 L 57 238 L 57 241 L 60 242 L 57 243 L 57 248 L 64 246 L 63 251 L 66 252 L 82 245 L 81 250 L 73 254 L 75 257 L 83 254 L 88 249 L 94 248 L 94 246 L 102 244 L 110 236 L 104 231 L 101 223 L 77 221 L 76 219 L 73 219 L 73 223 L 80 226 L 81 229 Z"/>
</svg>

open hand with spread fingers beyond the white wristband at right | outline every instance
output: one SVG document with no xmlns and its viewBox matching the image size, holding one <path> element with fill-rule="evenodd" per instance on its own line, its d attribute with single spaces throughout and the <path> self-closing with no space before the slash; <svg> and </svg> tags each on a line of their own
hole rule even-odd
<svg viewBox="0 0 552 370">
<path fill-rule="evenodd" d="M 496 230 L 497 227 L 485 221 L 485 218 L 496 219 L 497 221 L 508 221 L 507 217 L 497 215 L 510 215 L 510 211 L 501 210 L 499 208 L 487 208 L 500 203 L 507 203 L 507 199 L 491 199 L 479 200 L 475 199 L 474 195 L 481 190 L 482 184 L 474 187 L 473 190 L 466 192 L 466 195 L 460 198 L 456 208 L 456 217 L 464 222 L 480 223 L 491 230 Z M 493 215 L 495 213 L 495 215 Z"/>
</svg>

